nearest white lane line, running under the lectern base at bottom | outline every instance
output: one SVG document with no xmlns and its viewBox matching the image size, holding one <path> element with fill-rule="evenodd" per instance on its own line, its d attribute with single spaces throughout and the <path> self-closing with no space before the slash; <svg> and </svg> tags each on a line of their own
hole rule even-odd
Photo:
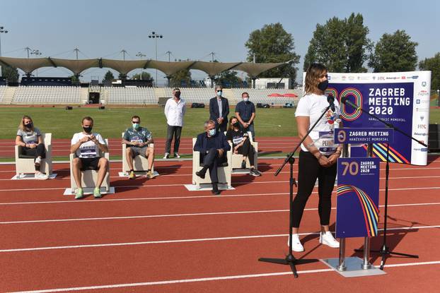
<svg viewBox="0 0 440 293">
<path fill-rule="evenodd" d="M 419 263 L 398 263 L 395 265 L 385 265 L 385 268 L 401 268 L 406 266 L 415 265 L 439 265 L 440 261 L 426 261 Z M 378 268 L 378 265 L 375 265 Z M 313 274 L 313 273 L 326 273 L 334 271 L 331 268 L 316 269 L 316 270 L 299 270 L 299 274 Z M 199 277 L 195 279 L 181 279 L 181 280 L 166 280 L 166 281 L 156 281 L 156 282 L 138 282 L 138 283 L 127 283 L 127 284 L 113 284 L 113 285 L 99 285 L 99 286 L 88 286 L 88 287 L 70 287 L 70 288 L 58 288 L 58 289 L 41 289 L 41 290 L 31 290 L 31 291 L 16 291 L 10 293 L 50 293 L 50 292 L 67 292 L 67 291 L 81 291 L 81 290 L 93 290 L 93 289 L 112 289 L 112 288 L 125 288 L 125 287 L 141 287 L 141 286 L 154 286 L 154 285 L 172 285 L 190 282 L 209 282 L 209 281 L 223 281 L 223 280 L 237 280 L 237 279 L 247 279 L 251 277 L 274 277 L 280 275 L 292 275 L 289 272 L 279 272 L 279 273 L 262 273 L 262 274 L 249 274 L 249 275 L 229 275 L 223 277 Z"/>
</svg>

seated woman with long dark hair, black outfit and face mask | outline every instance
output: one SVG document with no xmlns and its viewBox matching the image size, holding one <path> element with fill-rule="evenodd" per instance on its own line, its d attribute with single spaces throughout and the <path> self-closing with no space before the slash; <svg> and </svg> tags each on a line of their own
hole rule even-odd
<svg viewBox="0 0 440 293">
<path fill-rule="evenodd" d="M 226 139 L 232 143 L 233 153 L 243 155 L 243 162 L 241 162 L 241 168 L 246 168 L 246 157 L 250 162 L 250 174 L 253 176 L 261 176 L 260 171 L 254 167 L 254 154 L 255 150 L 253 145 L 250 144 L 248 133 L 244 133 L 240 128 L 240 122 L 235 116 L 229 119 L 228 131 L 226 132 Z"/>
</svg>

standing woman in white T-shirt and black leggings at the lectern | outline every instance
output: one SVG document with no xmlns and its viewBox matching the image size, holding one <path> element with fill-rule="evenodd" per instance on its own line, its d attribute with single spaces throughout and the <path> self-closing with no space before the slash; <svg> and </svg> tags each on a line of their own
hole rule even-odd
<svg viewBox="0 0 440 293">
<path fill-rule="evenodd" d="M 315 124 L 315 121 L 329 106 L 328 97 L 324 95 L 327 88 L 327 68 L 323 64 L 311 64 L 306 73 L 305 95 L 299 100 L 295 112 L 299 138 L 302 139 L 306 135 L 309 127 Z M 339 115 L 340 105 L 335 100 L 334 107 L 328 109 L 328 112 L 301 145 L 298 193 L 294 198 L 292 215 L 293 251 L 304 251 L 301 241 L 299 241 L 298 230 L 304 208 L 313 191 L 316 179 L 318 179 L 318 214 L 321 225 L 319 242 L 333 248 L 339 248 L 339 242 L 333 238 L 328 227 L 332 206 L 331 196 L 337 171 L 335 162 L 340 157 L 342 149 L 342 147 L 335 148 L 332 138 L 333 129 L 339 127 Z"/>
</svg>

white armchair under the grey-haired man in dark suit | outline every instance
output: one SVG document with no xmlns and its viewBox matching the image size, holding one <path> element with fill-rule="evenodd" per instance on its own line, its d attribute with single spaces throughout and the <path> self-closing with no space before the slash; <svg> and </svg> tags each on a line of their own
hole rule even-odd
<svg viewBox="0 0 440 293">
<path fill-rule="evenodd" d="M 194 145 L 197 138 L 192 138 L 192 184 L 195 184 L 197 188 L 200 188 L 200 184 L 211 184 L 211 177 L 209 176 L 209 169 L 204 177 L 204 179 L 198 177 L 195 172 L 201 170 L 203 167 L 200 166 L 200 152 L 194 150 Z M 231 143 L 229 143 L 231 145 Z M 232 145 L 231 150 L 226 152 L 227 164 L 217 167 L 217 174 L 219 177 L 219 184 L 227 184 L 228 188 L 231 187 L 231 175 L 232 175 Z"/>
</svg>

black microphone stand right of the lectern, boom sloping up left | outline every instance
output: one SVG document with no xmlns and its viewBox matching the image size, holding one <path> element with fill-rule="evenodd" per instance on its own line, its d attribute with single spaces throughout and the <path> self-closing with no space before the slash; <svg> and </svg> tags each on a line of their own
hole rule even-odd
<svg viewBox="0 0 440 293">
<path fill-rule="evenodd" d="M 385 124 L 388 128 L 393 128 L 393 130 L 398 131 L 399 133 L 402 133 L 407 138 L 411 138 L 412 140 L 417 141 L 420 145 L 424 145 L 427 147 L 425 143 L 420 142 L 419 140 L 413 138 L 412 136 L 408 135 L 407 133 L 401 131 L 399 128 L 396 128 L 393 126 L 393 124 L 390 124 L 383 119 L 379 118 L 378 116 L 371 114 L 367 112 L 365 109 L 362 109 L 361 107 L 357 107 L 357 105 L 353 104 L 347 98 L 342 99 L 343 104 L 349 104 L 354 109 L 359 109 L 360 111 L 368 114 L 369 116 L 373 117 L 374 119 L 377 119 L 378 121 L 381 121 L 381 123 Z M 419 256 L 415 254 L 408 254 L 408 253 L 400 253 L 400 252 L 394 252 L 390 251 L 388 246 L 386 246 L 386 232 L 387 232 L 387 222 L 388 222 L 388 179 L 390 177 L 390 160 L 389 160 L 389 153 L 390 153 L 390 144 L 386 144 L 386 168 L 385 168 L 385 221 L 383 222 L 383 244 L 381 249 L 379 250 L 371 250 L 373 253 L 379 253 L 381 254 L 381 266 L 380 269 L 383 270 L 383 266 L 385 265 L 386 257 L 390 255 L 396 255 L 396 256 L 405 256 L 407 258 L 419 258 Z M 362 252 L 363 249 L 354 249 L 356 252 Z"/>
</svg>

